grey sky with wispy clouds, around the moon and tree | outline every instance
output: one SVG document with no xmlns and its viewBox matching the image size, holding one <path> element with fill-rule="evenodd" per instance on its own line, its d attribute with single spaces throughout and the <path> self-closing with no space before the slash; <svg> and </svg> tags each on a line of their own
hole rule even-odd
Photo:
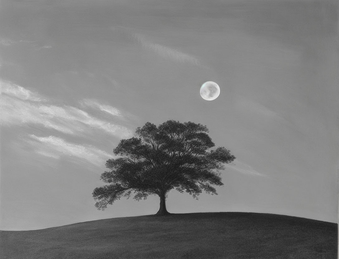
<svg viewBox="0 0 339 259">
<path fill-rule="evenodd" d="M 237 157 L 218 195 L 171 191 L 169 212 L 337 222 L 335 1 L 3 0 L 0 23 L 0 229 L 156 213 L 92 191 L 120 139 L 169 119 Z"/>
</svg>

